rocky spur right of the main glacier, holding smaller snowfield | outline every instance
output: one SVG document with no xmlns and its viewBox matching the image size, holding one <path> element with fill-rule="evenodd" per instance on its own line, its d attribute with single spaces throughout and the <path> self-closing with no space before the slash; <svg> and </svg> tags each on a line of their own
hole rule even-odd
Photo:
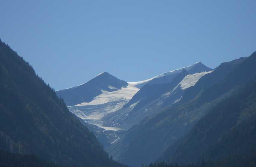
<svg viewBox="0 0 256 167">
<path fill-rule="evenodd" d="M 188 69 L 196 65 L 200 65 L 200 63 L 195 63 L 189 66 Z M 201 70 L 199 72 L 201 72 Z M 115 126 L 121 129 L 131 128 L 145 117 L 160 111 L 163 104 L 169 105 L 177 102 L 186 88 L 193 86 L 200 77 L 210 72 L 212 71 L 189 74 L 185 67 L 158 75 L 153 79 L 151 78 L 151 80 L 154 80 L 156 78 L 175 75 L 169 83 L 149 84 L 150 81 L 147 81 L 148 84 L 145 84 L 121 109 L 105 115 L 105 117 L 102 118 L 103 125 Z M 140 83 L 143 82 L 144 81 L 141 81 Z M 139 82 L 136 82 L 136 84 L 138 83 Z M 135 85 L 135 83 L 132 84 Z"/>
</svg>

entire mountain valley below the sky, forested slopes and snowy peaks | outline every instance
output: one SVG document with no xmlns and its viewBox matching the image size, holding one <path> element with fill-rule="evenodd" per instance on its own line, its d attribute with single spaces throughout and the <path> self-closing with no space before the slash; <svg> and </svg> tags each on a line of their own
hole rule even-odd
<svg viewBox="0 0 256 167">
<path fill-rule="evenodd" d="M 228 167 L 256 161 L 256 52 L 214 69 L 197 62 L 139 82 L 103 72 L 55 91 L 0 42 L 0 163 Z"/>
</svg>

